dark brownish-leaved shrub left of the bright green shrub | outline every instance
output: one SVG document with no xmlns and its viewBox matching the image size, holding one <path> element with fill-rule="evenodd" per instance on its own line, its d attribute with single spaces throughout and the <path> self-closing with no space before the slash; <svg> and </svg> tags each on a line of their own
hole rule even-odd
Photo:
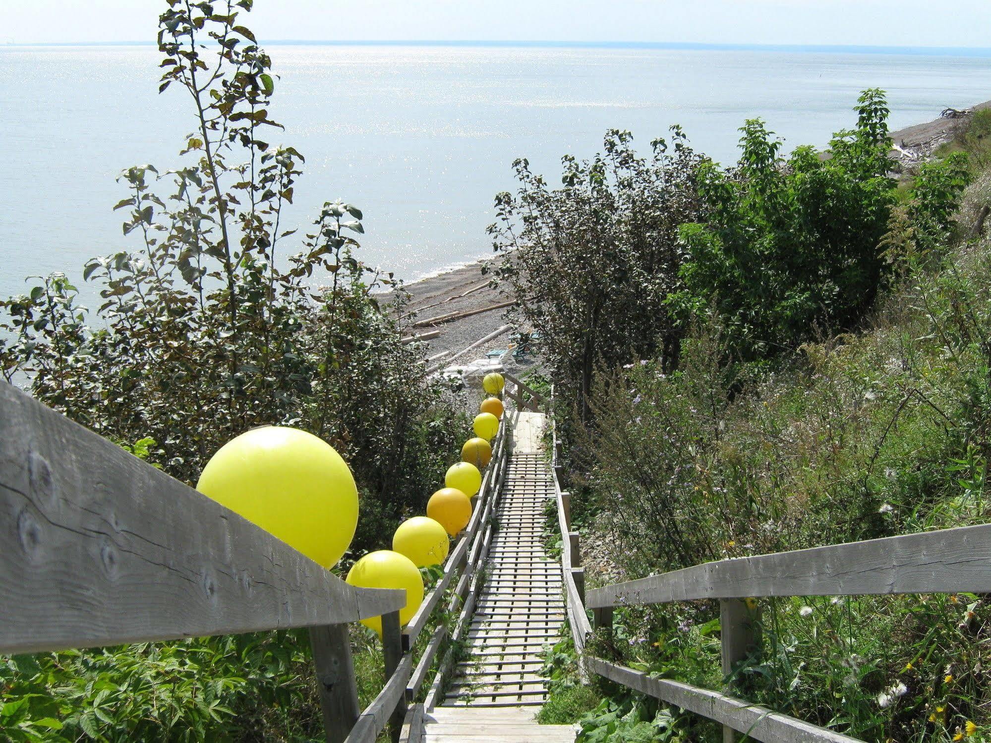
<svg viewBox="0 0 991 743">
<path fill-rule="evenodd" d="M 561 188 L 516 160 L 520 189 L 495 197 L 489 228 L 509 255 L 497 276 L 539 333 L 557 395 L 583 413 L 598 364 L 655 352 L 676 364 L 682 335 L 666 302 L 679 285 L 678 228 L 698 214 L 699 157 L 677 128 L 649 160 L 631 141 L 610 130 L 605 156 L 566 156 Z"/>
</svg>

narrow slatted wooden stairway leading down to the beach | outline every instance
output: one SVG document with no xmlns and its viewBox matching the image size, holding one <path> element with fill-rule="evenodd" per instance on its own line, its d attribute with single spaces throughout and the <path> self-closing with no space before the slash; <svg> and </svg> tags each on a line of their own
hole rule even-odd
<svg viewBox="0 0 991 743">
<path fill-rule="evenodd" d="M 508 416 L 506 416 L 508 418 Z M 544 512 L 554 497 L 541 452 L 545 416 L 514 416 L 512 450 L 495 509 L 498 529 L 468 631 L 467 654 L 443 700 L 425 716 L 424 743 L 571 743 L 571 725 L 540 725 L 547 699 L 542 652 L 564 623 L 561 566 L 544 550 Z"/>
</svg>

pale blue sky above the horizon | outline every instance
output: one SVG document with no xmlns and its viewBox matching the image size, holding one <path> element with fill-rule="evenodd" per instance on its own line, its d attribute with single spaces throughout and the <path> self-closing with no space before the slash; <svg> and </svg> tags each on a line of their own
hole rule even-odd
<svg viewBox="0 0 991 743">
<path fill-rule="evenodd" d="M 161 0 L 2 0 L 0 44 L 154 39 Z M 988 0 L 256 0 L 275 40 L 991 47 Z"/>
</svg>

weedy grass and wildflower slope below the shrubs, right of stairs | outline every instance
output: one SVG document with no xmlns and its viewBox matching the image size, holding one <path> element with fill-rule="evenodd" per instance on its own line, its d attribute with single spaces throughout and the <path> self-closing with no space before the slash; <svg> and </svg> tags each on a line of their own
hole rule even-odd
<svg viewBox="0 0 991 743">
<path fill-rule="evenodd" d="M 596 505 L 587 527 L 624 578 L 988 521 L 991 244 L 953 247 L 942 225 L 861 334 L 756 371 L 731 363 L 715 318 L 678 371 L 648 361 L 602 377 L 574 512 Z M 986 739 L 982 595 L 761 605 L 763 653 L 727 680 L 738 695 L 867 741 Z M 615 621 L 603 653 L 721 686 L 715 604 L 625 607 Z"/>
</svg>

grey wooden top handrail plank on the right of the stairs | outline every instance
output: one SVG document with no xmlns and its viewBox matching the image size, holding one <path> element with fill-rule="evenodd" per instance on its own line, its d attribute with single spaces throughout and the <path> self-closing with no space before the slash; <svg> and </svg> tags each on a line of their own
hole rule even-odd
<svg viewBox="0 0 991 743">
<path fill-rule="evenodd" d="M 958 591 L 991 591 L 991 524 L 720 560 L 596 588 L 588 605 Z"/>
</svg>

